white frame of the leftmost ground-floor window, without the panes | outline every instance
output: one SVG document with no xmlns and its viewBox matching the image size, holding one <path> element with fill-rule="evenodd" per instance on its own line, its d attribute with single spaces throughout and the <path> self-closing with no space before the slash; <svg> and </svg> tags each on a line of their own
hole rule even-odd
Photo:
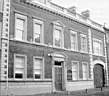
<svg viewBox="0 0 109 96">
<path fill-rule="evenodd" d="M 16 61 L 15 61 L 15 59 L 16 59 L 17 56 L 19 56 L 19 57 L 21 56 L 21 57 L 25 58 L 24 73 L 23 73 L 23 78 L 21 78 L 21 79 L 15 78 L 15 70 L 16 70 L 16 68 L 15 68 Z M 27 79 L 27 56 L 26 55 L 14 54 L 14 79 L 15 80 L 25 80 L 25 79 Z"/>
</svg>

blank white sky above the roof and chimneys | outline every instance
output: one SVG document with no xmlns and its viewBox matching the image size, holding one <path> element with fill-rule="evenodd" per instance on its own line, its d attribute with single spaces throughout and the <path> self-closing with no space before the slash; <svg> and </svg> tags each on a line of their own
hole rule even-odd
<svg viewBox="0 0 109 96">
<path fill-rule="evenodd" d="M 69 8 L 76 6 L 79 13 L 90 10 L 90 18 L 109 28 L 109 0 L 52 0 L 52 2 Z"/>
</svg>

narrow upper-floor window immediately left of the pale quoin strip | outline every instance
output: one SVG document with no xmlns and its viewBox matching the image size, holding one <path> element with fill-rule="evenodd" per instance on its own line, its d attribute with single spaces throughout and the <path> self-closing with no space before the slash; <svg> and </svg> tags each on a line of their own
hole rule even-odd
<svg viewBox="0 0 109 96">
<path fill-rule="evenodd" d="M 81 51 L 87 52 L 87 36 L 84 34 L 80 34 L 80 42 L 81 42 Z"/>
</svg>

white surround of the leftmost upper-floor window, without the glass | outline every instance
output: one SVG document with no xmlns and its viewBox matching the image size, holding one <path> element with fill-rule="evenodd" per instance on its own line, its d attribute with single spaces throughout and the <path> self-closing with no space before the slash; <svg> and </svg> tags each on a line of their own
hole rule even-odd
<svg viewBox="0 0 109 96">
<path fill-rule="evenodd" d="M 16 38 L 16 20 L 18 18 L 24 20 L 24 34 L 22 34 L 24 36 L 24 40 L 21 40 L 21 41 L 26 41 L 27 40 L 27 16 L 22 15 L 20 13 L 15 13 L 15 34 L 14 34 L 14 37 L 17 40 L 17 38 Z"/>
</svg>

